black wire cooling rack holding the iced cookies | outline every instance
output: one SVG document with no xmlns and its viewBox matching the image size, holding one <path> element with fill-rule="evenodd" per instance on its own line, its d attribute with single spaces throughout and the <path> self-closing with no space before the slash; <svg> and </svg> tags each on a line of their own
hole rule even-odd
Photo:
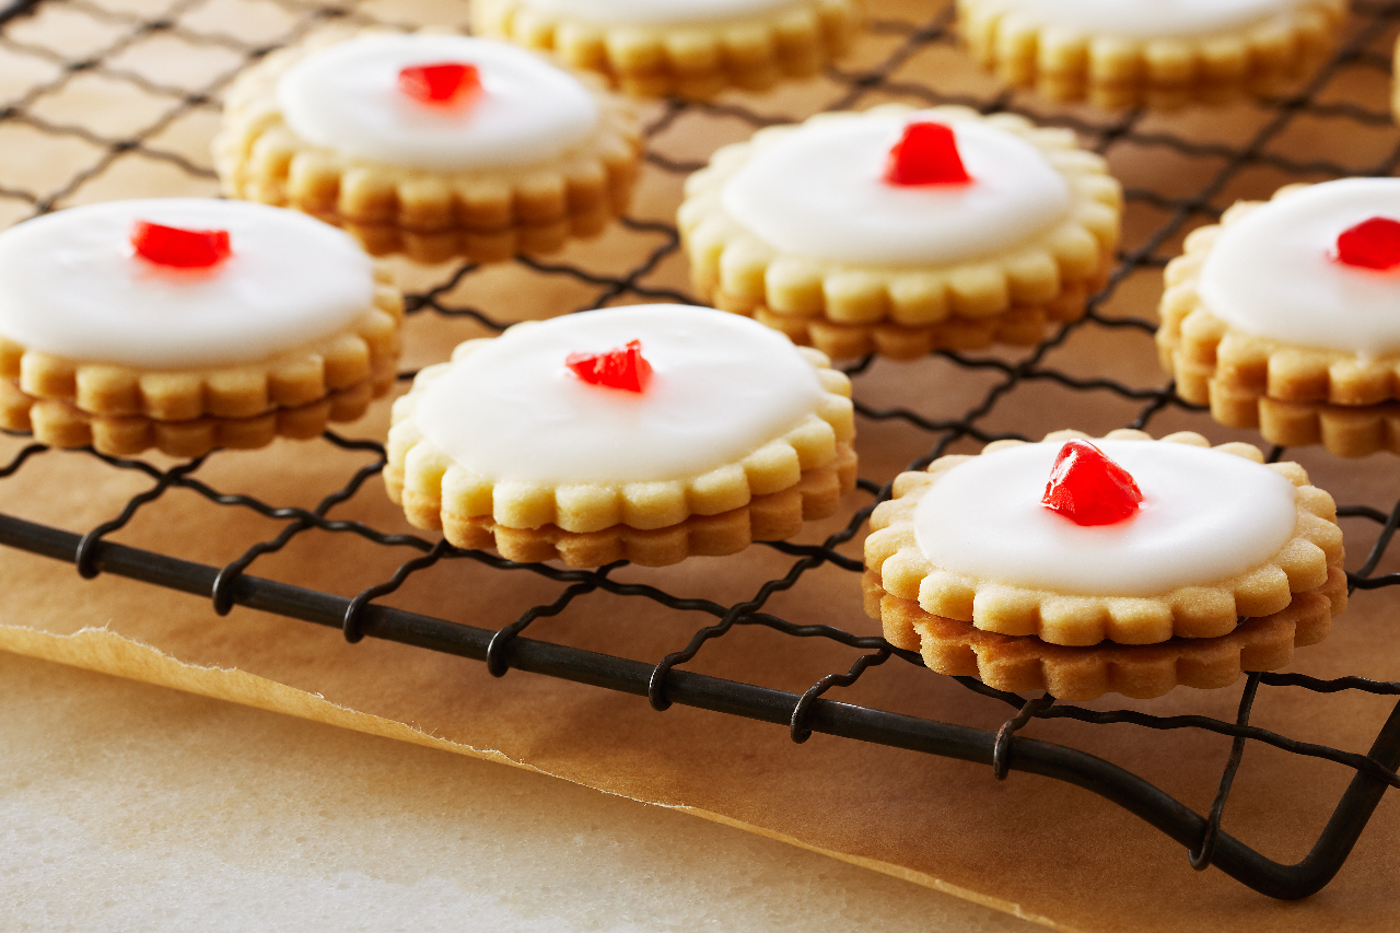
<svg viewBox="0 0 1400 933">
<path fill-rule="evenodd" d="M 39 186 L 25 188 L 0 178 L 0 210 L 7 210 L 8 217 L 18 220 L 62 206 L 83 185 L 101 177 L 116 160 L 130 153 L 139 153 L 146 160 L 165 163 L 190 178 L 211 179 L 213 172 L 207 161 L 162 141 L 167 129 L 192 113 L 216 112 L 218 95 L 234 74 L 248 62 L 266 55 L 277 45 L 293 42 L 328 21 L 384 22 L 384 17 L 371 15 L 353 6 L 332 6 L 319 0 L 305 3 L 269 0 L 281 11 L 286 27 L 273 41 L 258 43 L 246 36 L 200 31 L 189 25 L 185 14 L 197 8 L 203 1 L 175 0 L 158 15 L 133 13 L 122 6 L 108 6 L 98 0 L 17 0 L 10 6 L 0 7 L 0 57 L 22 56 L 50 67 L 49 77 L 32 83 L 15 99 L 4 102 L 0 98 L 0 132 L 7 127 L 22 127 L 25 132 L 39 133 L 49 139 L 76 139 L 88 144 L 95 153 L 88 164 L 43 189 Z M 132 8 L 141 10 L 143 7 L 134 4 Z M 109 38 L 91 42 L 91 48 L 80 56 L 28 41 L 24 24 L 55 10 L 98 24 L 108 31 Z M 1084 321 L 1067 326 L 1040 346 L 1022 353 L 935 353 L 934 357 L 938 357 L 942 364 L 980 370 L 983 375 L 988 377 L 990 388 L 974 403 L 963 410 L 931 416 L 910 408 L 882 408 L 864 401 L 861 394 L 864 377 L 879 366 L 879 361 L 865 359 L 847 370 L 855 385 L 858 417 L 862 422 L 895 423 L 900 430 L 921 437 L 921 448 L 925 452 L 910 465 L 916 469 L 960 441 L 984 443 L 1002 437 L 1019 437 L 1019 434 L 998 430 L 995 427 L 998 416 L 1005 406 L 1014 403 L 1008 401 L 1014 389 L 1042 382 L 1127 405 L 1128 410 L 1135 413 L 1126 420 L 1126 424 L 1131 427 L 1151 429 L 1161 424 L 1169 413 L 1184 413 L 1198 417 L 1203 430 L 1207 430 L 1204 426 L 1210 422 L 1200 415 L 1200 409 L 1176 398 L 1170 385 L 1131 385 L 1096 374 L 1088 377 L 1068 374 L 1050 366 L 1053 353 L 1074 333 L 1084 331 L 1130 331 L 1140 336 L 1151 335 L 1155 325 L 1149 319 L 1149 308 L 1140 308 L 1135 315 L 1124 315 L 1110 312 L 1107 307 L 1134 273 L 1161 269 L 1173 255 L 1175 244 L 1184 233 L 1217 219 L 1222 205 L 1228 205 L 1231 192 L 1246 172 L 1266 170 L 1274 172 L 1280 181 L 1393 174 L 1400 165 L 1400 134 L 1392 132 L 1390 113 L 1375 101 L 1358 104 L 1350 99 L 1333 99 L 1334 95 L 1330 95 L 1327 88 L 1333 87 L 1341 76 L 1359 76 L 1358 80 L 1371 87 L 1387 87 L 1390 64 L 1389 56 L 1385 53 L 1385 43 L 1393 38 L 1396 25 L 1400 25 L 1400 3 L 1358 3 L 1345 31 L 1344 43 L 1322 70 L 1295 92 L 1261 102 L 1254 111 L 1259 115 L 1257 125 L 1240 140 L 1226 144 L 1201 141 L 1186 132 L 1155 129 L 1151 115 L 1142 111 L 1116 115 L 1095 115 L 1077 108 L 1044 111 L 1035 104 L 1033 98 L 1012 94 L 1000 87 L 986 94 L 948 94 L 938 92 L 923 83 L 906 80 L 902 77 L 906 63 L 928 50 L 955 46 L 952 11 L 951 8 L 939 8 L 923 20 L 881 18 L 876 6 L 875 18 L 868 24 L 868 28 L 879 36 L 885 55 L 868 67 L 829 69 L 825 81 L 827 87 L 833 88 L 833 92 L 822 102 L 823 109 L 860 108 L 882 99 L 904 99 L 917 104 L 965 104 L 984 112 L 1023 112 L 1039 122 L 1074 129 L 1088 147 L 1100 153 L 1110 153 L 1116 146 L 1131 144 L 1149 153 L 1207 160 L 1212 167 L 1200 178 L 1200 184 L 1194 189 L 1183 193 L 1169 193 L 1154 186 L 1128 184 L 1126 191 L 1128 217 L 1130 220 L 1134 216 L 1138 219 L 1140 234 L 1135 240 L 1128 238 L 1130 245 L 1120 254 L 1107 287 L 1093 298 Z M 125 63 L 130 57 L 126 53 L 133 46 L 157 35 L 174 36 L 196 50 L 217 50 L 234 62 L 231 67 L 213 74 L 197 87 L 164 83 Z M 157 97 L 165 102 L 164 111 L 139 132 L 119 137 L 45 116 L 42 101 L 60 92 L 84 73 L 101 74 Z M 988 84 L 988 87 L 991 85 Z M 757 98 L 736 95 L 732 99 L 722 98 L 722 102 L 665 101 L 654 109 L 650 118 L 648 137 L 657 140 L 679 122 L 694 116 L 736 120 L 750 129 L 805 116 L 805 113 L 762 112 L 750 104 L 753 99 Z M 1309 119 L 1338 120 L 1348 127 L 1362 127 L 1382 134 L 1376 157 L 1368 164 L 1343 165 L 1331 157 L 1301 158 L 1289 156 L 1274 146 L 1275 140 Z M 679 177 L 700 168 L 703 161 L 664 156 L 659 148 L 652 148 L 648 153 L 648 171 Z M 669 220 L 624 217 L 622 223 L 629 231 L 638 234 L 637 240 L 644 245 L 636 249 L 634 265 L 620 275 L 612 270 L 526 256 L 517 258 L 515 265 L 522 275 L 561 276 L 573 280 L 591 294 L 585 307 L 602 307 L 609 303 L 637 298 L 693 301 L 693 297 L 682 289 L 669 287 L 664 280 L 657 284 L 658 279 L 654 276 L 657 269 L 673 258 L 679 249 L 679 238 Z M 477 266 L 463 265 L 447 272 L 440 282 L 414 291 L 409 296 L 410 315 L 466 318 L 489 331 L 503 329 L 507 321 L 500 315 L 454 298 L 458 286 L 479 273 Z M 1154 275 L 1158 273 L 1154 272 Z M 410 377 L 412 373 L 405 373 L 400 378 Z M 22 437 L 17 437 L 11 443 L 15 452 L 8 464 L 0 466 L 0 481 L 24 469 L 42 469 L 39 464 L 49 454 L 46 447 L 27 444 Z M 879 637 L 855 635 L 834 625 L 785 619 L 767 612 L 766 608 L 773 597 L 802 587 L 811 579 L 812 572 L 823 566 L 834 567 L 847 574 L 850 586 L 857 586 L 862 569 L 861 562 L 847 556 L 839 548 L 861 534 L 871 509 L 889 495 L 889 486 L 882 482 L 860 481 L 860 492 L 853 497 L 858 499 L 858 510 L 850 514 L 843 528 L 820 545 L 781 542 L 755 545 L 777 551 L 790 558 L 791 565 L 787 573 L 762 583 L 749 598 L 725 604 L 706 598 L 676 597 L 644 583 L 619 581 L 615 577 L 622 565 L 587 572 L 552 565 L 512 565 L 491 553 L 459 551 L 441 541 L 386 532 L 360 521 L 336 520 L 330 517 L 332 511 L 354 497 L 361 486 L 379 472 L 384 465 L 384 448 L 375 441 L 350 440 L 330 431 L 323 436 L 323 443 L 360 457 L 363 465 L 342 488 L 325 490 L 323 499 L 314 509 L 279 507 L 253 496 L 220 492 L 199 478 L 199 471 L 207 458 L 174 466 L 160 466 L 140 458 L 113 458 L 87 451 L 87 455 L 101 461 L 109 469 L 134 471 L 144 475 L 151 483 L 150 488 L 132 497 L 120 513 L 109 521 L 83 535 L 15 516 L 0 514 L 0 542 L 56 560 L 71 562 L 83 577 L 109 573 L 155 587 L 209 597 L 213 602 L 213 611 L 218 615 L 227 614 L 234 605 L 249 607 L 339 628 L 350 642 L 358 642 L 363 637 L 388 639 L 484 661 L 487 670 L 497 677 L 512 668 L 532 671 L 603 689 L 647 696 L 657 710 L 664 710 L 672 703 L 682 703 L 781 724 L 788 727 L 791 740 L 797 742 L 805 741 L 812 733 L 826 733 L 979 762 L 990 766 L 988 779 L 993 776 L 1002 779 L 1011 770 L 1049 776 L 1085 787 L 1138 815 L 1184 846 L 1194 867 L 1204 869 L 1214 864 L 1243 884 L 1274 898 L 1302 898 L 1323 888 L 1345 862 L 1385 790 L 1400 786 L 1400 778 L 1396 773 L 1396 766 L 1400 765 L 1400 705 L 1390 712 L 1368 754 L 1303 742 L 1250 724 L 1256 700 L 1264 688 L 1296 688 L 1313 693 L 1354 692 L 1376 698 L 1400 696 L 1400 684 L 1359 677 L 1317 679 L 1292 672 L 1250 674 L 1243 682 L 1233 721 L 1203 714 L 1154 716 L 1124 709 L 1095 710 L 1058 703 L 1050 696 L 1028 699 L 1004 693 L 972 678 L 955 679 L 967 691 L 986 698 L 987 703 L 993 706 L 1004 703 L 1008 707 L 1005 724 L 1000 730 L 993 731 L 827 699 L 829 691 L 853 685 L 871 668 L 890 661 L 918 665 L 920 658 L 914 653 L 893 649 Z M 1278 458 L 1282 452 L 1282 450 L 1275 448 L 1271 451 L 1271 457 Z M 211 457 L 217 455 L 217 452 L 211 454 Z M 283 528 L 276 537 L 256 544 L 223 566 L 196 563 L 169 553 L 158 553 L 108 539 L 109 535 L 126 527 L 143 507 L 175 489 L 192 492 L 203 500 L 211 510 L 210 521 L 217 523 L 218 509 L 238 509 L 280 521 Z M 1396 530 L 1400 528 L 1400 504 L 1344 504 L 1340 514 L 1369 527 L 1373 532 L 1373 544 L 1368 556 L 1350 574 L 1352 590 L 1366 591 L 1400 583 L 1400 574 L 1378 572 Z M 354 535 L 374 545 L 403 548 L 417 552 L 417 555 L 403 563 L 389 580 L 354 583 L 354 587 L 360 588 L 354 598 L 343 598 L 251 573 L 259 558 L 281 551 L 294 538 L 311 530 Z M 1350 538 L 1350 541 L 1354 548 L 1355 539 Z M 535 605 L 518 618 L 500 619 L 501 625 L 497 628 L 477 628 L 379 602 L 381 597 L 392 594 L 412 574 L 440 562 L 473 562 L 497 572 L 538 574 L 559 584 L 561 593 L 554 601 Z M 694 630 L 689 643 L 678 644 L 659 663 L 588 651 L 543 637 L 525 637 L 526 629 L 538 619 L 568 612 L 596 594 L 647 601 L 675 611 L 678 615 L 699 612 L 708 616 L 710 622 Z M 482 621 L 489 615 L 487 607 L 473 607 L 473 621 Z M 823 677 L 799 695 L 686 668 L 686 664 L 694 660 L 708 643 L 742 626 L 763 626 L 794 639 L 823 639 L 841 646 L 851 656 L 850 670 Z M 1131 723 L 1137 727 L 1162 731 L 1205 730 L 1231 737 L 1232 747 L 1219 778 L 1214 804 L 1207 814 L 1201 815 L 1142 778 L 1102 758 L 1067 745 L 1016 734 L 1035 719 L 1075 720 L 1086 726 Z M 1309 855 L 1296 864 L 1273 862 L 1221 829 L 1225 804 L 1249 742 L 1271 745 L 1302 758 L 1334 762 L 1354 773 L 1322 835 Z"/>
</svg>

